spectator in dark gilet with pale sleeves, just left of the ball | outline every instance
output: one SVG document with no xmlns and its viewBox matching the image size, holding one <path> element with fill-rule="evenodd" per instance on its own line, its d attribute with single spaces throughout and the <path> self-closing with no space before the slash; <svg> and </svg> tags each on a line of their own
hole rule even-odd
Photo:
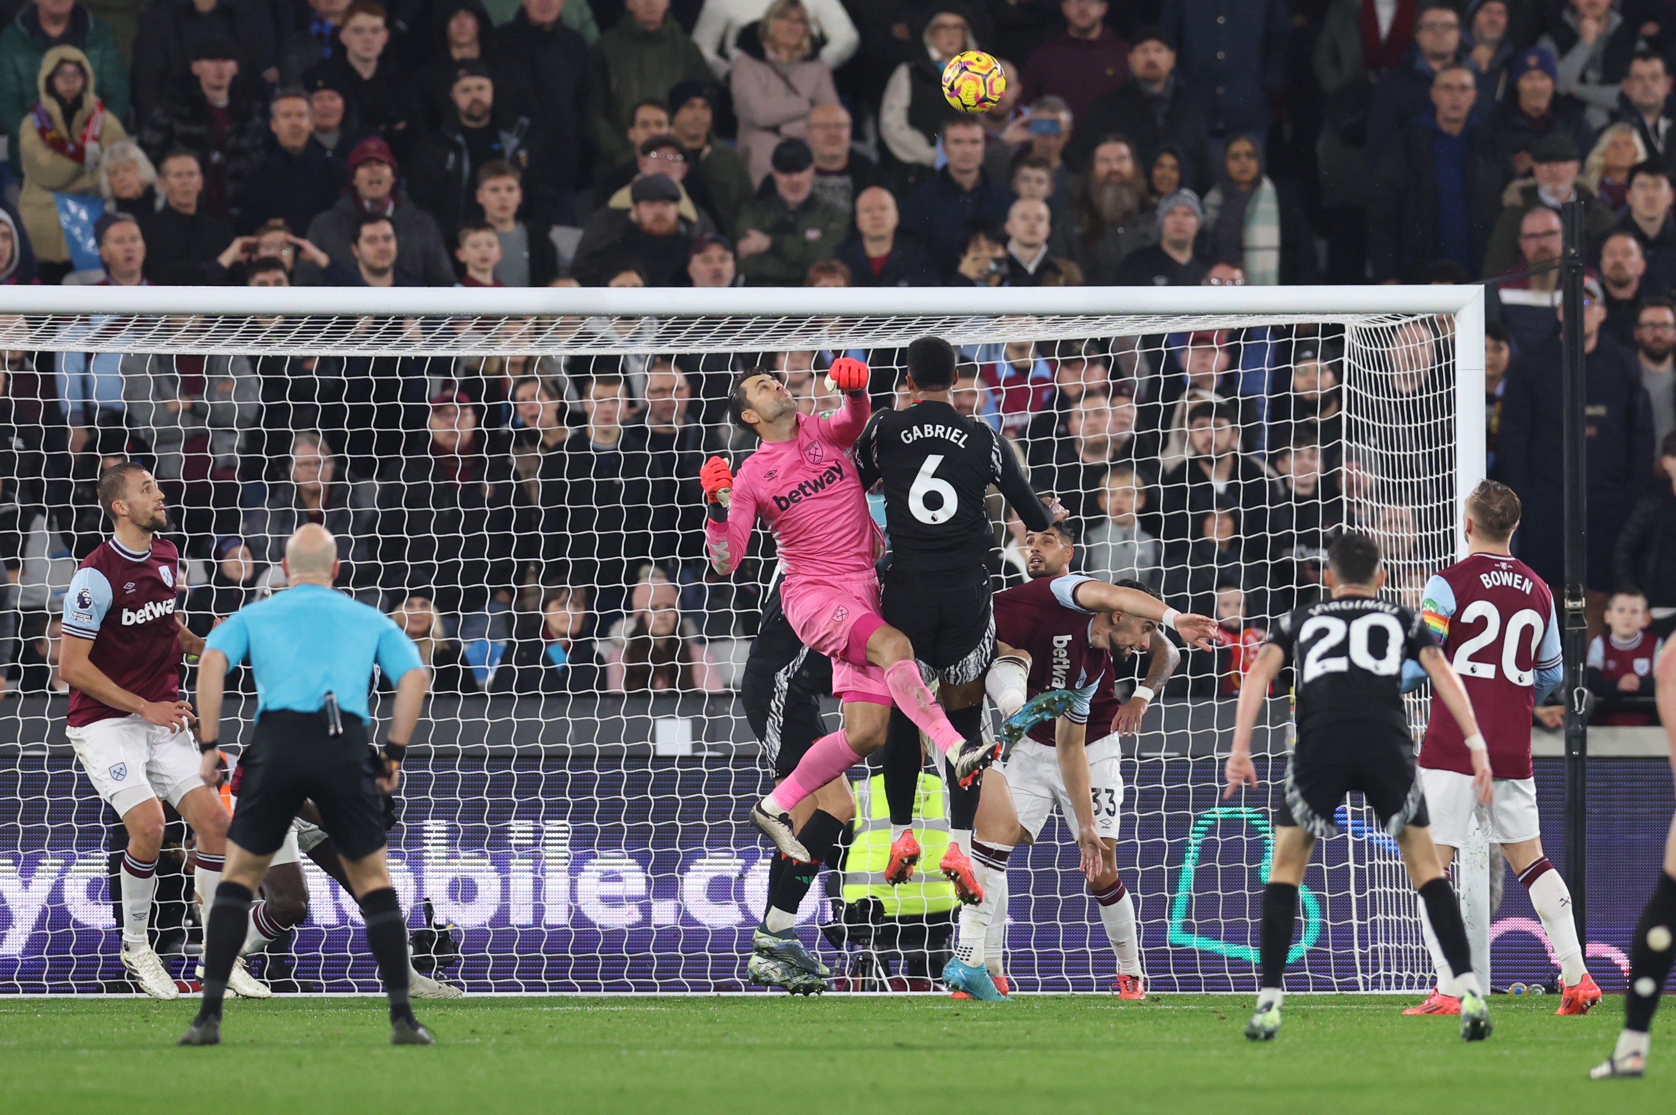
<svg viewBox="0 0 1676 1115">
<path fill-rule="evenodd" d="M 972 17 L 960 0 L 942 0 L 925 7 L 925 30 L 920 35 L 922 50 L 902 62 L 885 82 L 885 96 L 878 104 L 878 134 L 890 149 L 890 154 L 907 168 L 937 166 L 939 139 L 944 139 L 944 154 L 949 156 L 944 131 L 957 121 L 970 122 L 977 129 L 977 153 L 982 163 L 984 124 L 960 112 L 949 104 L 942 91 L 942 72 L 949 59 L 962 50 L 977 50 L 977 37 L 972 34 Z M 949 156 L 952 158 L 952 156 Z M 970 174 L 970 171 L 962 171 Z M 939 173 L 940 176 L 940 173 Z M 925 173 L 910 178 L 915 184 L 923 181 Z M 1001 220 L 1001 213 L 994 215 Z M 960 220 L 964 220 L 962 215 Z M 910 220 L 912 223 L 912 220 Z M 957 225 L 959 226 L 959 225 Z M 945 248 L 945 255 L 952 248 Z M 952 258 L 940 260 L 944 273 L 954 270 Z"/>
</svg>

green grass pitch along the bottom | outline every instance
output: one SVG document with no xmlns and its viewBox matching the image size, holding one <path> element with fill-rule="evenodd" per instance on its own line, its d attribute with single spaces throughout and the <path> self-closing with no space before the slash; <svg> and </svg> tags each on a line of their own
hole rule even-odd
<svg viewBox="0 0 1676 1115">
<path fill-rule="evenodd" d="M 1676 1110 L 1676 1023 L 1646 1080 L 1591 1081 L 1622 999 L 1492 1003 L 1495 1035 L 1403 1018 L 1389 996 L 1294 996 L 1270 1045 L 1249 996 L 516 998 L 417 1003 L 434 1048 L 392 1048 L 382 999 L 228 1004 L 225 1045 L 181 1050 L 194 999 L 0 999 L 0 1112 L 513 1115 L 727 1112 Z"/>
</svg>

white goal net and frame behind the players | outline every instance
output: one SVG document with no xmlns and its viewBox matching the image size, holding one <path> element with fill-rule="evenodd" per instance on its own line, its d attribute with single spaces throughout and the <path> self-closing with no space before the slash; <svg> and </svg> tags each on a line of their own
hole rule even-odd
<svg viewBox="0 0 1676 1115">
<path fill-rule="evenodd" d="M 473 993 L 747 986 L 769 853 L 746 813 L 769 773 L 741 684 L 774 547 L 758 530 L 731 578 L 711 573 L 697 485 L 707 454 L 737 464 L 753 448 L 722 401 L 736 371 L 778 371 L 818 411 L 836 404 L 823 369 L 855 355 L 888 407 L 905 399 L 907 344 L 945 337 L 962 357 L 955 406 L 996 424 L 1037 491 L 1064 501 L 1078 568 L 1223 620 L 1225 644 L 1183 654 L 1121 743 L 1118 863 L 1160 991 L 1255 986 L 1284 686 L 1257 733 L 1262 788 L 1218 795 L 1255 642 L 1322 592 L 1341 526 L 1379 540 L 1389 592 L 1418 605 L 1456 555 L 1458 503 L 1483 468 L 1477 288 L 39 288 L 8 300 L 0 991 L 12 993 L 127 989 L 111 902 L 126 837 L 65 739 L 57 671 L 64 592 L 107 537 L 96 481 L 116 459 L 144 463 L 168 495 L 193 630 L 283 589 L 285 538 L 317 521 L 337 535 L 340 587 L 414 635 L 432 696 L 399 791 L 392 874 L 416 966 Z M 994 583 L 1021 583 L 1021 528 L 994 508 Z M 1146 669 L 1120 664 L 1120 686 Z M 255 692 L 243 672 L 228 689 L 221 739 L 236 760 Z M 836 726 L 831 703 L 826 718 Z M 872 775 L 850 775 L 861 808 L 846 870 L 811 889 L 803 934 L 838 988 L 932 989 L 955 900 L 934 857 L 929 877 L 897 889 L 858 867 L 890 837 Z M 927 763 L 927 847 L 947 838 L 935 778 Z M 1339 820 L 1344 835 L 1306 879 L 1291 986 L 1428 988 L 1394 845 L 1359 798 Z M 171 822 L 151 932 L 191 978 L 193 838 Z M 1012 857 L 1014 989 L 1113 979 L 1076 858 L 1064 818 Z M 374 989 L 354 900 L 307 855 L 302 875 L 307 912 L 253 971 L 293 991 Z"/>
</svg>

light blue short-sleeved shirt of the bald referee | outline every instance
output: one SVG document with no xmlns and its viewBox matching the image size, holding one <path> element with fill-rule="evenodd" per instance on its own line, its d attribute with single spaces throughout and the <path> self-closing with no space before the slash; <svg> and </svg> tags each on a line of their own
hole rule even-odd
<svg viewBox="0 0 1676 1115">
<path fill-rule="evenodd" d="M 243 607 L 206 644 L 226 656 L 228 669 L 250 657 L 256 716 L 318 713 L 334 692 L 344 713 L 365 721 L 374 664 L 391 681 L 424 666 L 396 620 L 325 585 L 297 585 Z"/>
</svg>

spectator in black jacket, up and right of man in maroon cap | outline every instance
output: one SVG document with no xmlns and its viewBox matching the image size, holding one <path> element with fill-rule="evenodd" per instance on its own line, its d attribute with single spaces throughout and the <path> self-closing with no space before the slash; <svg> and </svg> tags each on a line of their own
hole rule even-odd
<svg viewBox="0 0 1676 1115">
<path fill-rule="evenodd" d="M 494 79 L 483 62 L 458 62 L 449 87 L 453 114 L 419 143 L 407 189 L 453 236 L 464 223 L 476 223 L 476 174 L 489 163 L 511 163 L 531 181 L 551 181 L 556 159 L 541 144 L 540 129 L 528 116 L 496 109 Z M 553 213 L 543 193 L 525 196 L 525 208 L 536 218 Z"/>
</svg>

